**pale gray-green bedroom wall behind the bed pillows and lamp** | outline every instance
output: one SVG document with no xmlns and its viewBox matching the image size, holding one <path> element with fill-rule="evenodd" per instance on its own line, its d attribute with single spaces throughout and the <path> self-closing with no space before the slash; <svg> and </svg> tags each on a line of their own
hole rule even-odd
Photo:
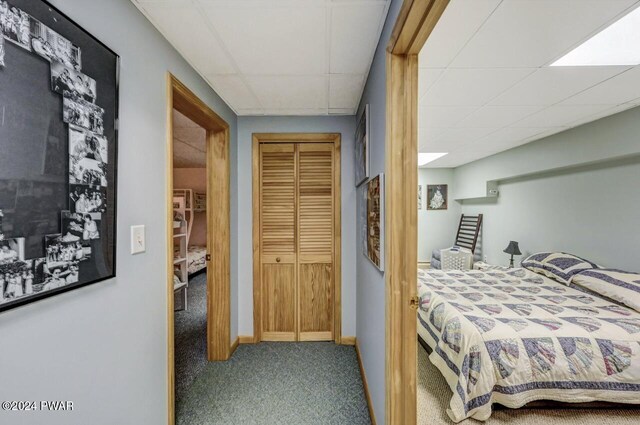
<svg viewBox="0 0 640 425">
<path fill-rule="evenodd" d="M 502 250 L 515 240 L 525 255 L 565 251 L 640 271 L 638 134 L 635 108 L 457 168 L 457 187 L 499 180 L 497 199 L 462 206 L 465 214 L 484 214 L 482 254 L 506 265 Z M 527 175 L 511 177 L 522 172 Z"/>
</svg>

